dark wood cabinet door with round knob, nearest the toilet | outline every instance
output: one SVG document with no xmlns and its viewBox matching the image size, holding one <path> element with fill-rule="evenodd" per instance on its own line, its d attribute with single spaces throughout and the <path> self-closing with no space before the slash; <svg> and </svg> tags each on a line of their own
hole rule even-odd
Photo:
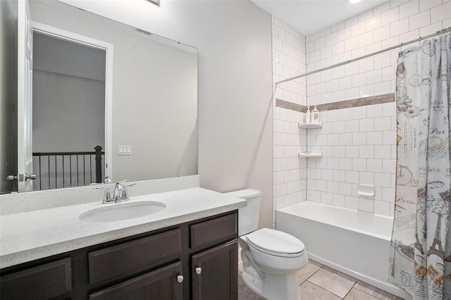
<svg viewBox="0 0 451 300">
<path fill-rule="evenodd" d="M 192 256 L 194 300 L 238 299 L 237 240 Z"/>
</svg>

